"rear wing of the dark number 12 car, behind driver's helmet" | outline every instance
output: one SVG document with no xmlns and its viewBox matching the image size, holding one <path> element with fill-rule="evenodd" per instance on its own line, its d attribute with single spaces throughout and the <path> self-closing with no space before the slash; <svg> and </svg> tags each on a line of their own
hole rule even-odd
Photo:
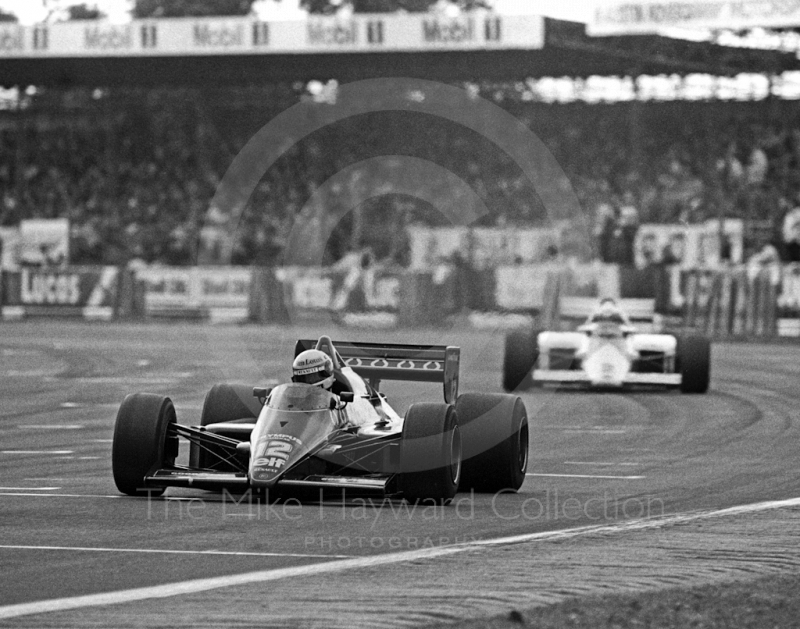
<svg viewBox="0 0 800 629">
<path fill-rule="evenodd" d="M 338 366 L 353 369 L 378 388 L 381 380 L 441 382 L 444 400 L 455 403 L 458 396 L 458 372 L 461 349 L 445 345 L 405 345 L 400 343 L 361 343 L 301 339 L 295 345 L 295 356 L 307 349 L 320 349 L 329 354 Z"/>
</svg>

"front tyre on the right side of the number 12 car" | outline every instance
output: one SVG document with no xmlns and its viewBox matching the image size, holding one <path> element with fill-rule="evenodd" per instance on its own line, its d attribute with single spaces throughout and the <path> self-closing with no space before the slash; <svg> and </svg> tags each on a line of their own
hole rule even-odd
<svg viewBox="0 0 800 629">
<path fill-rule="evenodd" d="M 450 404 L 413 404 L 400 441 L 399 488 L 411 503 L 447 504 L 461 481 L 461 431 Z"/>
</svg>

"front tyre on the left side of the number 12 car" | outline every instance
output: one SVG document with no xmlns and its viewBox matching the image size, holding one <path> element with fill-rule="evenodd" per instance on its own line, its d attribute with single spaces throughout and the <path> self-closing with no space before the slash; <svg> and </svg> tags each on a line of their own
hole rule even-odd
<svg viewBox="0 0 800 629">
<path fill-rule="evenodd" d="M 178 437 L 169 434 L 175 423 L 172 401 L 153 393 L 133 393 L 122 402 L 114 426 L 111 467 L 114 483 L 129 496 L 160 496 L 163 488 L 144 487 L 144 477 L 175 464 Z"/>
</svg>

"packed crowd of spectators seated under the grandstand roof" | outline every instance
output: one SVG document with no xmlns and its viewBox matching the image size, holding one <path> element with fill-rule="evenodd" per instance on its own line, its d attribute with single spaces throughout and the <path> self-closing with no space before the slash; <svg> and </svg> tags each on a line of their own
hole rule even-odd
<svg viewBox="0 0 800 629">
<path fill-rule="evenodd" d="M 319 223 L 321 238 L 331 231 L 340 236 L 328 242 L 338 247 L 327 252 L 331 259 L 370 244 L 402 262 L 395 236 L 405 224 L 446 223 L 448 208 L 472 202 L 435 171 L 418 182 L 424 203 L 408 195 L 381 199 L 382 191 L 391 192 L 385 184 L 401 176 L 402 156 L 428 160 L 465 181 L 489 210 L 481 225 L 548 218 L 525 174 L 480 134 L 430 116 L 384 113 L 288 142 L 241 222 L 228 224 L 225 208 L 211 201 L 231 159 L 263 124 L 303 98 L 305 86 L 297 85 L 29 95 L 25 107 L 0 112 L 0 222 L 68 217 L 79 263 L 192 263 L 204 231 L 236 227 L 233 261 L 268 265 L 280 261 L 288 231 L 303 216 Z M 769 221 L 784 257 L 796 256 L 797 247 L 781 237 L 784 217 L 800 205 L 793 103 L 547 105 L 497 92 L 491 98 L 543 140 L 594 217 L 598 253 L 609 261 L 631 262 L 631 234 L 641 222 L 716 217 Z M 308 104 L 309 115 L 325 106 Z M 369 161 L 387 155 L 395 158 Z M 314 190 L 344 170 L 347 177 L 327 191 L 324 207 L 309 205 Z M 368 197 L 360 214 L 348 212 L 354 199 Z M 336 216 L 344 218 L 326 224 Z"/>
</svg>

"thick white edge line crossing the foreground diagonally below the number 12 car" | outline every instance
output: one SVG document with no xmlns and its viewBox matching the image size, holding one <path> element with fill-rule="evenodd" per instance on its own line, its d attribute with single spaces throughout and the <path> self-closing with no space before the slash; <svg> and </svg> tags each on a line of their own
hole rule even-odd
<svg viewBox="0 0 800 629">
<path fill-rule="evenodd" d="M 370 557 L 355 557 L 352 559 L 341 559 L 322 563 L 310 564 L 305 566 L 294 566 L 291 568 L 274 568 L 272 570 L 259 570 L 257 572 L 245 572 L 224 577 L 210 577 L 207 579 L 192 579 L 178 583 L 165 583 L 150 587 L 133 588 L 130 590 L 119 590 L 117 592 L 106 592 L 102 594 L 86 594 L 84 596 L 73 596 L 69 598 L 56 598 L 50 600 L 34 601 L 31 603 L 19 603 L 16 605 L 6 605 L 0 607 L 0 620 L 6 618 L 17 618 L 19 616 L 30 616 L 32 614 L 43 614 L 49 612 L 63 612 L 71 609 L 82 609 L 84 607 L 97 607 L 101 605 L 119 605 L 121 603 L 131 603 L 134 601 L 144 601 L 158 598 L 168 598 L 184 594 L 194 594 L 206 592 L 219 588 L 232 587 L 237 585 L 247 585 L 251 583 L 264 583 L 267 581 L 278 581 L 292 577 L 316 576 L 319 574 L 329 574 L 343 572 L 346 570 L 356 570 L 359 568 L 373 568 L 376 566 L 386 566 L 408 561 L 434 559 L 447 555 L 455 555 L 481 547 L 502 546 L 508 544 L 519 544 L 523 542 L 561 540 L 588 535 L 624 533 L 628 531 L 641 531 L 646 529 L 662 528 L 675 524 L 685 524 L 696 520 L 723 517 L 730 515 L 742 515 L 746 513 L 756 513 L 768 511 L 782 507 L 800 506 L 800 498 L 789 500 L 773 500 L 769 502 L 759 502 L 739 507 L 730 507 L 716 511 L 695 511 L 672 516 L 662 516 L 641 520 L 629 520 L 609 525 L 584 526 L 575 529 L 561 531 L 543 531 L 540 533 L 528 533 L 514 535 L 511 537 L 501 537 L 490 540 L 479 540 L 464 544 L 454 544 L 452 546 L 436 546 L 433 548 L 422 548 L 419 550 L 407 550 L 397 553 L 387 553 L 383 555 L 373 555 Z"/>
</svg>

